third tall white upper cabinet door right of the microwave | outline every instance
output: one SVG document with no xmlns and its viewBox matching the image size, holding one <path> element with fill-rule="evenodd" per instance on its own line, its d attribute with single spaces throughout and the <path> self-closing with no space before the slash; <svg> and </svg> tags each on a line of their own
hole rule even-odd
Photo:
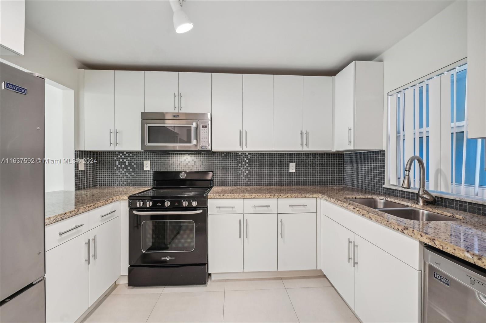
<svg viewBox="0 0 486 323">
<path fill-rule="evenodd" d="M 274 150 L 302 150 L 302 76 L 274 75 Z"/>
</svg>

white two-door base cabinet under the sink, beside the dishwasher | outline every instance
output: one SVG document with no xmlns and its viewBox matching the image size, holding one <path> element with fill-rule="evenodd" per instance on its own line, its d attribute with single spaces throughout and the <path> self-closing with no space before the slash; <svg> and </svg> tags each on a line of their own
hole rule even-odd
<svg viewBox="0 0 486 323">
<path fill-rule="evenodd" d="M 421 245 L 321 202 L 321 268 L 361 322 L 421 322 Z"/>
</svg>

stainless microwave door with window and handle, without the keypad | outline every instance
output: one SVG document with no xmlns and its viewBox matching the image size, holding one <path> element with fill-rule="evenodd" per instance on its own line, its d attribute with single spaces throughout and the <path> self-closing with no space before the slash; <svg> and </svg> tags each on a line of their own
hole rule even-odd
<svg viewBox="0 0 486 323">
<path fill-rule="evenodd" d="M 197 150 L 197 120 L 141 120 L 142 150 Z"/>
</svg>

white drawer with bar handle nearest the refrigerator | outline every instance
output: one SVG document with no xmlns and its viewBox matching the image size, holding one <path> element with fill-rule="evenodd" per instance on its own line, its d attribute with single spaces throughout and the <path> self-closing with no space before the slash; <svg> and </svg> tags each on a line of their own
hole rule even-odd
<svg viewBox="0 0 486 323">
<path fill-rule="evenodd" d="M 88 218 L 88 213 L 85 212 L 48 225 L 46 227 L 46 251 L 87 232 Z"/>
</svg>

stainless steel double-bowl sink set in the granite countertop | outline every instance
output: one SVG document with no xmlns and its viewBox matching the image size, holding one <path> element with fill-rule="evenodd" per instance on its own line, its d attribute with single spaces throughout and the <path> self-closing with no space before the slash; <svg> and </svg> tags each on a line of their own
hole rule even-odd
<svg viewBox="0 0 486 323">
<path fill-rule="evenodd" d="M 405 204 L 388 201 L 381 198 L 347 198 L 347 200 L 388 213 L 403 219 L 414 221 L 456 221 L 455 217 L 438 214 L 431 211 L 416 209 Z"/>
</svg>

